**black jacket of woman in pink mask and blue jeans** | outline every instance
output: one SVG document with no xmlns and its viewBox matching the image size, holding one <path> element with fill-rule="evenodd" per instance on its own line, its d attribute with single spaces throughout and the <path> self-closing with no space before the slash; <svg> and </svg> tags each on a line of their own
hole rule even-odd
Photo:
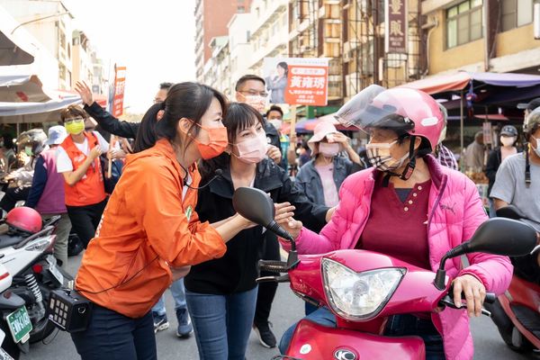
<svg viewBox="0 0 540 360">
<path fill-rule="evenodd" d="M 222 171 L 220 177 L 199 190 L 196 211 L 201 221 L 213 223 L 235 214 L 229 166 L 222 168 Z M 309 202 L 294 187 L 284 169 L 276 166 L 274 161 L 265 159 L 257 165 L 254 187 L 270 193 L 274 202 L 291 202 L 296 207 L 295 219 L 301 220 L 304 226 L 319 229 L 324 226 L 329 208 Z M 253 289 L 266 232 L 263 233 L 261 226 L 240 231 L 227 243 L 227 252 L 223 257 L 192 266 L 184 279 L 185 288 L 193 293 L 211 294 L 241 293 Z"/>
</svg>

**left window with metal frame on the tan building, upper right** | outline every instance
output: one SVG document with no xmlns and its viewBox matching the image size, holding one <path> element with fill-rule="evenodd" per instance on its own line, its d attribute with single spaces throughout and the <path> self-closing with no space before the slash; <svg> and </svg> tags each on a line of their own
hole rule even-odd
<svg viewBox="0 0 540 360">
<path fill-rule="evenodd" d="M 467 0 L 446 10 L 446 48 L 482 38 L 482 0 Z"/>
</svg>

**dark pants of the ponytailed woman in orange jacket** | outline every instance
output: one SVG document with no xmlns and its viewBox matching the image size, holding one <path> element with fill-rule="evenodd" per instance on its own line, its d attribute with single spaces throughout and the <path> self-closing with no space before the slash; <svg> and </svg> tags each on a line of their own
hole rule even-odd
<svg viewBox="0 0 540 360">
<path fill-rule="evenodd" d="M 152 312 L 139 319 L 94 304 L 88 329 L 71 334 L 83 360 L 156 360 Z"/>
</svg>

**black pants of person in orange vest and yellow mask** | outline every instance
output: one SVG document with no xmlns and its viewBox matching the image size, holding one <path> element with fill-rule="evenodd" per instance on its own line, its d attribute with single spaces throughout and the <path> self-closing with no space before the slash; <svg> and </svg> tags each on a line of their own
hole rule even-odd
<svg viewBox="0 0 540 360">
<path fill-rule="evenodd" d="M 66 206 L 67 215 L 71 220 L 71 227 L 81 239 L 85 248 L 90 240 L 94 238 L 95 229 L 99 225 L 106 204 L 107 199 L 93 205 Z"/>
</svg>

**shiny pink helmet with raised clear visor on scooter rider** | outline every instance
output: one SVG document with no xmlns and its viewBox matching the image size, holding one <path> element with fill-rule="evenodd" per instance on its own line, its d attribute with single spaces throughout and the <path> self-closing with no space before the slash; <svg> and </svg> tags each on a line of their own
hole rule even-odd
<svg viewBox="0 0 540 360">
<path fill-rule="evenodd" d="M 346 126 L 355 125 L 369 132 L 373 128 L 394 130 L 428 139 L 431 149 L 437 146 L 445 118 L 438 103 L 428 94 L 405 87 L 384 89 L 370 85 L 356 94 L 337 112 Z"/>
</svg>

